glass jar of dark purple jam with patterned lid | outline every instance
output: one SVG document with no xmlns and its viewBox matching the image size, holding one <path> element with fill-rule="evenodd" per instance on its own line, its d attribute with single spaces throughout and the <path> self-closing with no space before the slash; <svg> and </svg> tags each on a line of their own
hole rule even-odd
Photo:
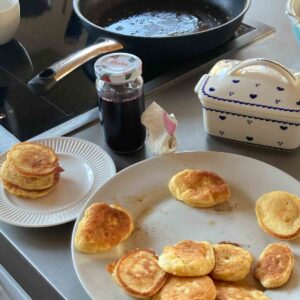
<svg viewBox="0 0 300 300">
<path fill-rule="evenodd" d="M 100 119 L 108 146 L 115 152 L 140 149 L 146 130 L 141 60 L 128 53 L 111 53 L 95 63 Z"/>
</svg>

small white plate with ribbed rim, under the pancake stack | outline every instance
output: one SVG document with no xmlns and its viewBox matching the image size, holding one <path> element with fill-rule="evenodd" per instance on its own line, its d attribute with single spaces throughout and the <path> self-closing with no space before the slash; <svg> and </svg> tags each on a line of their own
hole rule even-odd
<svg viewBox="0 0 300 300">
<path fill-rule="evenodd" d="M 75 138 L 33 141 L 54 149 L 64 169 L 55 190 L 36 200 L 6 192 L 0 184 L 0 220 L 23 227 L 46 227 L 77 218 L 87 199 L 115 173 L 110 156 L 99 146 Z M 6 153 L 0 156 L 0 165 Z"/>
</svg>

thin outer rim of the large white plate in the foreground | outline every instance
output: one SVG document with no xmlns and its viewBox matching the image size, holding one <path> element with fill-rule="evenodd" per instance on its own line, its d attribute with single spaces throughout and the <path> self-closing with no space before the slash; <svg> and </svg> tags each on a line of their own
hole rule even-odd
<svg viewBox="0 0 300 300">
<path fill-rule="evenodd" d="M 79 217 L 83 215 L 83 211 L 87 208 L 87 206 L 89 205 L 90 201 L 92 201 L 92 199 L 95 197 L 95 195 L 102 189 L 102 188 L 105 188 L 106 185 L 110 184 L 110 181 L 114 180 L 114 178 L 116 177 L 119 177 L 119 176 L 122 176 L 123 173 L 126 173 L 128 170 L 132 169 L 132 168 L 135 168 L 136 166 L 138 165 L 141 165 L 141 164 L 144 164 L 146 162 L 149 162 L 149 161 L 152 161 L 152 160 L 157 160 L 157 159 L 163 159 L 164 157 L 167 157 L 167 156 L 181 156 L 181 155 L 189 155 L 189 154 L 215 154 L 215 155 L 227 155 L 227 156 L 236 156 L 236 157 L 240 157 L 240 158 L 244 158 L 244 159 L 247 159 L 247 160 L 250 160 L 250 161 L 256 161 L 262 165 L 266 165 L 268 167 L 271 167 L 281 173 L 284 173 L 285 175 L 289 176 L 292 180 L 296 181 L 296 182 L 299 182 L 298 179 L 296 179 L 295 177 L 293 177 L 292 175 L 288 174 L 287 172 L 269 164 L 269 163 L 266 163 L 264 161 L 261 161 L 259 159 L 256 159 L 256 158 L 252 158 L 252 157 L 249 157 L 249 156 L 245 156 L 245 155 L 241 155 L 241 154 L 235 154 L 235 153 L 231 153 L 231 152 L 223 152 L 223 151 L 180 151 L 180 152 L 175 152 L 175 153 L 169 153 L 169 154 L 166 154 L 166 155 L 162 155 L 162 156 L 156 156 L 156 157 L 150 157 L 150 158 L 147 158 L 147 159 L 144 159 L 144 160 L 141 160 L 137 163 L 134 163 L 126 168 L 124 168 L 123 170 L 117 172 L 113 177 L 111 177 L 108 181 L 106 181 L 101 187 L 99 187 L 88 199 L 88 201 L 84 204 L 84 206 L 82 207 L 78 217 L 76 218 L 76 221 L 74 223 L 74 226 L 73 226 L 73 230 L 72 230 L 72 237 L 71 237 L 71 256 L 72 256 L 72 264 L 73 264 L 73 267 L 74 267 L 74 270 L 75 270 L 75 273 L 76 273 L 76 276 L 79 280 L 79 282 L 81 283 L 81 286 L 83 287 L 83 289 L 85 290 L 85 292 L 89 295 L 89 297 L 91 297 L 92 299 L 94 299 L 94 295 L 90 294 L 89 290 L 87 289 L 87 287 L 85 286 L 85 284 L 82 282 L 82 279 L 80 277 L 80 274 L 79 274 L 79 271 L 77 269 L 77 265 L 75 264 L 75 246 L 74 246 L 74 239 L 75 239 L 75 233 L 76 233 L 76 230 L 77 230 L 77 227 L 78 227 L 78 223 L 79 221 Z M 88 255 L 88 254 L 87 254 Z"/>
</svg>

